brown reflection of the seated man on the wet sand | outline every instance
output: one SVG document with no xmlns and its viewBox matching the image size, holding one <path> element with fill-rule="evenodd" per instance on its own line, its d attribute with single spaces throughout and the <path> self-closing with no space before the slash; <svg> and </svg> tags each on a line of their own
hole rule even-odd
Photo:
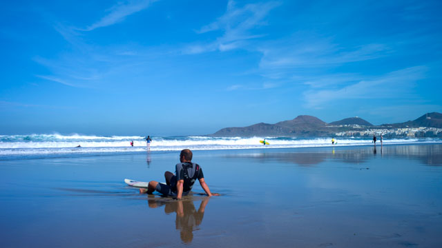
<svg viewBox="0 0 442 248">
<path fill-rule="evenodd" d="M 157 198 L 153 195 L 148 196 L 148 206 L 157 208 L 164 205 L 164 213 L 171 214 L 175 212 L 175 228 L 180 230 L 180 238 L 185 244 L 190 244 L 193 240 L 193 231 L 202 223 L 204 209 L 209 203 L 209 197 L 202 198 L 198 211 L 193 205 L 193 196 L 183 200 L 172 200 L 171 198 Z"/>
</svg>

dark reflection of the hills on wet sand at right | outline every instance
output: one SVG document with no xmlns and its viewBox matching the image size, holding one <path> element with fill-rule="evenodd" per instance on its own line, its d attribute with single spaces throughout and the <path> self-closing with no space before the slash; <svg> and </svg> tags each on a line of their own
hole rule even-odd
<svg viewBox="0 0 442 248">
<path fill-rule="evenodd" d="M 373 156 L 374 155 L 374 156 Z M 375 147 L 339 147 L 331 150 L 317 149 L 311 152 L 260 152 L 253 154 L 231 154 L 228 157 L 255 158 L 259 161 L 276 160 L 301 166 L 318 165 L 327 159 L 336 159 L 342 163 L 365 163 L 378 156 Z M 414 159 L 424 165 L 442 165 L 442 145 L 392 145 L 381 146 L 381 157 L 395 156 Z"/>
</svg>

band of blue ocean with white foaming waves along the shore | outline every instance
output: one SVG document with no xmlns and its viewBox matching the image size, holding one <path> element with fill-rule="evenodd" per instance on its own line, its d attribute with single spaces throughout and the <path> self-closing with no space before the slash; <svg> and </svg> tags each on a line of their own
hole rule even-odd
<svg viewBox="0 0 442 248">
<path fill-rule="evenodd" d="M 274 149 L 297 147 L 330 147 L 331 138 L 292 137 L 210 137 L 153 136 L 152 152 L 221 149 Z M 270 145 L 259 141 L 266 139 Z M 100 156 L 146 152 L 145 136 L 95 136 L 81 134 L 0 135 L 0 160 L 26 158 L 57 158 L 70 156 Z M 367 138 L 335 138 L 334 146 L 373 145 Z M 131 141 L 134 146 L 131 147 Z M 380 142 L 377 142 L 380 145 Z M 441 138 L 392 138 L 383 145 L 442 143 Z M 81 147 L 77 147 L 80 145 Z"/>
</svg>

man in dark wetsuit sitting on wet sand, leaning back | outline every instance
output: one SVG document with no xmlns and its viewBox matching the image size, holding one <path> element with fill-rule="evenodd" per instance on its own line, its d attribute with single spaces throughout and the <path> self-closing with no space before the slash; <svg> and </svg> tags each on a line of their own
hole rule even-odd
<svg viewBox="0 0 442 248">
<path fill-rule="evenodd" d="M 208 196 L 219 196 L 220 194 L 211 194 L 209 186 L 204 181 L 204 174 L 200 165 L 192 163 L 192 151 L 184 149 L 180 153 L 180 162 L 175 165 L 175 175 L 172 172 L 165 172 L 166 184 L 150 181 L 147 189 L 140 189 L 140 193 L 152 194 L 155 190 L 164 196 L 176 196 L 178 200 L 191 192 L 193 183 L 198 179 L 204 192 Z"/>
</svg>

